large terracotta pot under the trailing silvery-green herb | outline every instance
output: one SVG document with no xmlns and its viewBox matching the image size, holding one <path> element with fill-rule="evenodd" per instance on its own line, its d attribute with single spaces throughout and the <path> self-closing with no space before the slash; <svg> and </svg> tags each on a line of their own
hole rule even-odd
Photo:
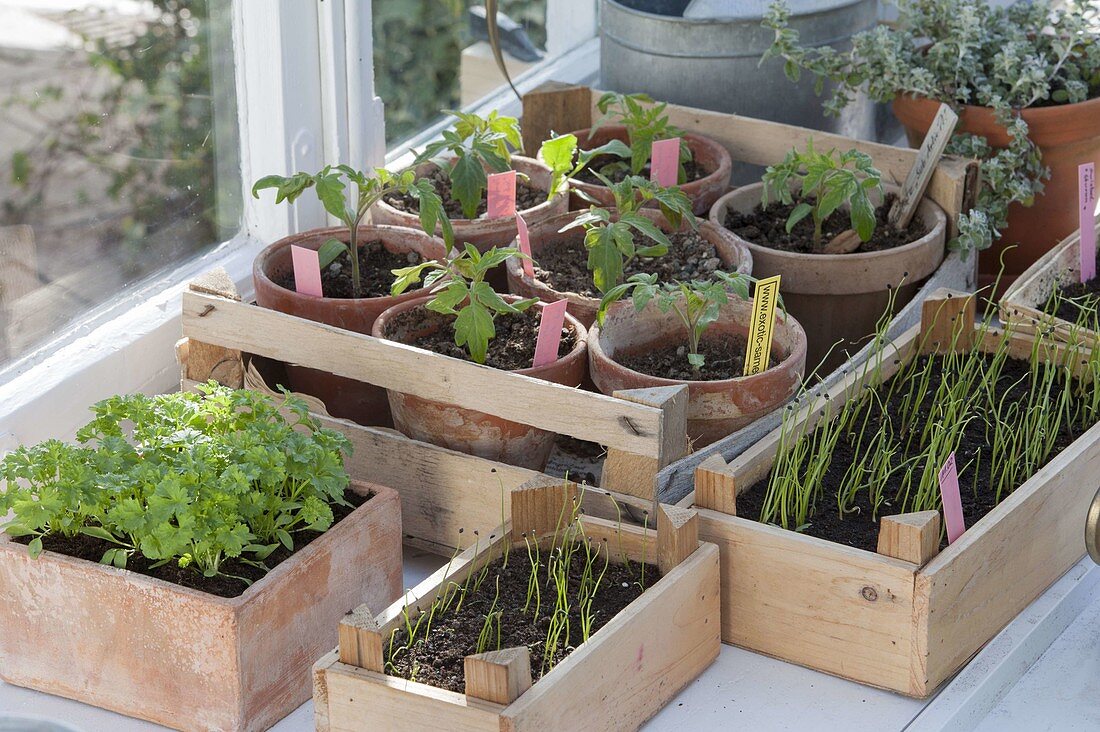
<svg viewBox="0 0 1100 732">
<path fill-rule="evenodd" d="M 923 97 L 894 99 L 894 114 L 905 127 L 911 145 L 920 146 L 938 108 L 938 101 Z M 1042 150 L 1043 164 L 1050 168 L 1052 175 L 1033 206 L 1009 207 L 1009 226 L 1001 232 L 1001 239 L 979 256 L 980 284 L 988 285 L 1000 271 L 1001 252 L 1016 244 L 1004 254 L 1002 291 L 1077 230 L 1077 166 L 1089 162 L 1100 166 L 1100 98 L 1077 105 L 1033 107 L 1021 110 L 1021 117 L 1027 122 L 1028 136 Z M 993 148 L 1009 144 L 1008 133 L 987 107 L 964 107 L 958 131 L 980 134 Z"/>
</svg>

